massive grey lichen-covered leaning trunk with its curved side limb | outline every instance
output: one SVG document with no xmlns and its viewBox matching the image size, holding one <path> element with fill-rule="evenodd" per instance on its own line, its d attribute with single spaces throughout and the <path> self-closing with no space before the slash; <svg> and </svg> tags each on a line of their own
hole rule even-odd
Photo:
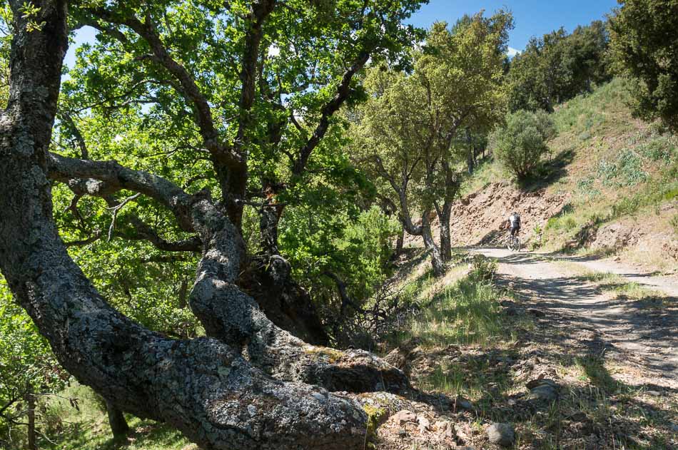
<svg viewBox="0 0 678 450">
<path fill-rule="evenodd" d="M 204 449 L 362 449 L 366 414 L 328 389 L 400 390 L 408 386 L 402 372 L 367 352 L 328 355 L 266 319 L 236 285 L 242 239 L 206 195 L 114 161 L 48 153 L 68 43 L 66 1 L 36 0 L 39 13 L 29 18 L 19 1 L 11 6 L 11 87 L 0 113 L 0 271 L 59 362 L 117 409 L 167 422 Z M 28 31 L 29 20 L 42 25 Z M 209 337 L 169 339 L 101 297 L 59 238 L 48 175 L 143 193 L 201 235 L 191 307 Z"/>
</svg>

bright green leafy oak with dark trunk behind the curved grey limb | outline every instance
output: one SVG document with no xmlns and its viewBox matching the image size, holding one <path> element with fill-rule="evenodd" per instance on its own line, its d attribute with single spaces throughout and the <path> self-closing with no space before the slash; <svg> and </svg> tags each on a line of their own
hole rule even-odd
<svg viewBox="0 0 678 450">
<path fill-rule="evenodd" d="M 308 207 L 313 177 L 342 177 L 336 145 L 327 143 L 337 134 L 335 113 L 362 97 L 356 74 L 370 58 L 400 63 L 418 36 L 403 20 L 421 2 L 79 4 L 71 16 L 97 35 L 64 83 L 57 140 L 74 143 L 66 155 L 114 157 L 189 192 L 210 190 L 248 238 L 238 285 L 275 324 L 327 344 L 312 300 L 290 276 L 279 223 L 285 210 Z M 106 232 L 81 220 L 79 198 L 91 192 L 69 187 L 74 200 L 60 223 L 82 230 L 74 242 L 104 237 L 146 240 L 163 252 L 203 249 L 198 235 L 182 234 L 168 218 L 161 229 L 153 226 L 149 218 L 165 214 L 153 203 L 134 198 L 133 208 L 122 208 L 132 193 L 98 193 L 106 201 L 100 210 L 120 208 L 115 229 Z M 249 238 L 253 220 L 258 233 Z"/>
</svg>

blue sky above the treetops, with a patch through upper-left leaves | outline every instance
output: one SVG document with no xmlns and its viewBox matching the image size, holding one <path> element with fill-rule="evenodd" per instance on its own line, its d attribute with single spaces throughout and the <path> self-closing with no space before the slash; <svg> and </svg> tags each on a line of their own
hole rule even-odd
<svg viewBox="0 0 678 450">
<path fill-rule="evenodd" d="M 428 28 L 435 21 L 454 23 L 464 14 L 485 9 L 486 14 L 506 7 L 513 13 L 515 29 L 510 33 L 509 46 L 517 51 L 525 48 L 531 36 L 541 36 L 565 26 L 572 32 L 577 25 L 589 24 L 617 6 L 616 0 L 430 0 L 411 19 L 410 23 Z M 69 48 L 64 61 L 69 67 L 75 62 L 75 48 L 83 42 L 94 40 L 94 30 L 84 27 L 76 33 L 76 42 Z"/>
</svg>

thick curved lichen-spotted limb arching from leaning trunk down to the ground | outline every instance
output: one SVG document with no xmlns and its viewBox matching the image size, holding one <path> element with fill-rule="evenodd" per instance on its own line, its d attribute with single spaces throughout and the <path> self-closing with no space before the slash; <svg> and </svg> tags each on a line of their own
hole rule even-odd
<svg viewBox="0 0 678 450">
<path fill-rule="evenodd" d="M 256 302 L 237 285 L 245 244 L 228 217 L 206 198 L 188 195 L 168 180 L 131 170 L 115 161 L 97 162 L 49 154 L 49 176 L 56 180 L 88 177 L 97 190 L 128 189 L 166 205 L 198 232 L 203 257 L 198 264 L 191 309 L 211 337 L 248 354 L 273 377 L 358 392 L 407 389 L 402 372 L 368 352 L 316 350 L 265 317 Z M 96 183 L 103 183 L 105 189 Z M 340 355 L 338 357 L 337 355 Z"/>
</svg>

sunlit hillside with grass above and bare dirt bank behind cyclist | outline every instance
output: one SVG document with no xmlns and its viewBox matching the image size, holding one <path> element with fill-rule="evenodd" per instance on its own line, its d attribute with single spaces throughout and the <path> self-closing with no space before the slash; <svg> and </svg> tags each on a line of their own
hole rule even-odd
<svg viewBox="0 0 678 450">
<path fill-rule="evenodd" d="M 512 210 L 523 240 L 541 250 L 615 254 L 672 271 L 678 267 L 678 138 L 632 118 L 622 80 L 555 111 L 559 134 L 530 185 L 509 183 L 497 162 L 463 188 L 452 226 L 457 245 L 498 243 Z"/>
</svg>

